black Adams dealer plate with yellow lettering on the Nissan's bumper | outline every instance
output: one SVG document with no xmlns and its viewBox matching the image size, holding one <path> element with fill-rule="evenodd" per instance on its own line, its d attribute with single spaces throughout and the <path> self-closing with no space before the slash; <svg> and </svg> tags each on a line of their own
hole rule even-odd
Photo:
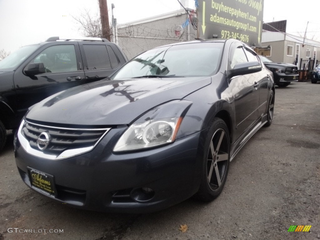
<svg viewBox="0 0 320 240">
<path fill-rule="evenodd" d="M 32 188 L 52 197 L 57 196 L 54 177 L 52 175 L 30 167 L 28 167 L 28 170 Z"/>
</svg>

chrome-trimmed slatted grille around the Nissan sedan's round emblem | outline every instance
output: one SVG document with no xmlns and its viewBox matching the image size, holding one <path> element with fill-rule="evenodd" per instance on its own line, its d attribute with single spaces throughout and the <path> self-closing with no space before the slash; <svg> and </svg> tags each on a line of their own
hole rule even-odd
<svg viewBox="0 0 320 240">
<path fill-rule="evenodd" d="M 26 140 L 23 146 L 32 155 L 38 156 L 40 151 L 37 140 L 41 133 L 46 132 L 50 136 L 48 146 L 41 150 L 41 156 L 50 159 L 61 159 L 76 156 L 92 150 L 103 138 L 110 128 L 64 128 L 40 125 L 24 121 L 19 133 Z M 32 149 L 34 150 L 32 150 Z M 36 152 L 35 152 L 36 150 Z"/>
</svg>

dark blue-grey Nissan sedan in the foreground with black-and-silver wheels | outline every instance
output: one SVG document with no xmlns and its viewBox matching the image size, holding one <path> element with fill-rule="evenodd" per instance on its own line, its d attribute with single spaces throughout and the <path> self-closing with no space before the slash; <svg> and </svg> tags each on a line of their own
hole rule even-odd
<svg viewBox="0 0 320 240">
<path fill-rule="evenodd" d="M 29 108 L 16 164 L 28 187 L 83 209 L 212 201 L 238 151 L 271 124 L 274 101 L 272 72 L 238 40 L 161 46 Z"/>
</svg>

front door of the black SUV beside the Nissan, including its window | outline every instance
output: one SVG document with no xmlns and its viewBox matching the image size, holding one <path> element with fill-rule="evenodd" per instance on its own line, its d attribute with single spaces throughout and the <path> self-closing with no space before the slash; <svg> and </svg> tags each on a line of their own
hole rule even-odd
<svg viewBox="0 0 320 240">
<path fill-rule="evenodd" d="M 15 71 L 13 77 L 17 109 L 21 114 L 52 94 L 85 83 L 77 42 L 45 44 L 30 59 Z M 45 72 L 27 76 L 25 69 L 31 63 L 43 63 Z"/>
</svg>

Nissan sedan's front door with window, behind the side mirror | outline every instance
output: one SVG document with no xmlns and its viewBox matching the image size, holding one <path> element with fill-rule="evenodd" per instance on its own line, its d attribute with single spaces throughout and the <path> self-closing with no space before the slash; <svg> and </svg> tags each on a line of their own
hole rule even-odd
<svg viewBox="0 0 320 240">
<path fill-rule="evenodd" d="M 243 62 L 248 62 L 244 46 L 239 43 L 233 43 L 229 52 L 228 70 Z M 249 130 L 258 118 L 259 83 L 256 77 L 256 73 L 253 73 L 228 79 L 229 87 L 231 87 L 234 97 L 236 139 L 246 130 Z"/>
</svg>

